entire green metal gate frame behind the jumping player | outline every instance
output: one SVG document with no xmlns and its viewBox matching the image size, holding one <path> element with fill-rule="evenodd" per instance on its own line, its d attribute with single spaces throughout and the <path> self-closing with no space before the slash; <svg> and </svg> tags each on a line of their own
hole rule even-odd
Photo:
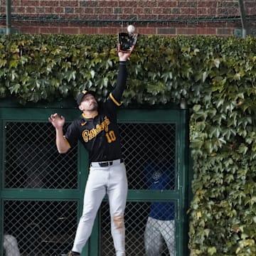
<svg viewBox="0 0 256 256">
<path fill-rule="evenodd" d="M 63 106 L 55 107 L 1 107 L 0 105 L 0 133 L 3 134 L 5 121 L 23 122 L 48 122 L 50 114 L 58 112 L 63 114 L 67 121 L 73 120 L 80 112 L 76 108 L 63 108 Z M 118 121 L 120 123 L 171 123 L 176 125 L 176 166 L 177 169 L 177 186 L 176 191 L 161 191 L 154 193 L 147 190 L 129 190 L 127 201 L 164 201 L 173 199 L 176 201 L 177 218 L 176 218 L 176 252 L 177 255 L 188 255 L 188 249 L 184 247 L 188 241 L 188 217 L 186 210 L 188 209 L 188 198 L 191 176 L 189 171 L 188 157 L 188 110 L 180 109 L 121 109 L 118 112 Z M 82 213 L 83 193 L 85 181 L 87 179 L 87 155 L 82 146 L 78 146 L 78 188 L 77 189 L 17 189 L 4 188 L 3 186 L 3 142 L 0 137 L 0 161 L 1 161 L 1 183 L 0 183 L 0 213 L 3 216 L 4 200 L 77 200 L 78 201 L 78 220 Z M 83 157 L 80 157 L 83 156 Z M 3 218 L 0 218 L 0 228 L 3 229 Z M 95 225 L 92 230 L 90 242 L 87 243 L 82 255 L 99 255 L 99 232 L 100 232 L 100 217 L 95 220 Z M 3 238 L 0 233 L 0 250 L 2 252 Z M 0 253 L 1 255 L 1 253 Z"/>
</svg>

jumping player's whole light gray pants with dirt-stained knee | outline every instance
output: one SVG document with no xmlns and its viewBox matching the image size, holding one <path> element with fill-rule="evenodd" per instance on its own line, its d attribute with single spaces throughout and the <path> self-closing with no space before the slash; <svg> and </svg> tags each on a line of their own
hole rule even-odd
<svg viewBox="0 0 256 256">
<path fill-rule="evenodd" d="M 92 226 L 106 193 L 110 204 L 111 234 L 117 256 L 125 255 L 124 209 L 127 201 L 127 174 L 124 163 L 113 161 L 111 166 L 90 166 L 85 187 L 82 216 L 75 235 L 73 252 L 82 252 L 92 233 Z"/>
</svg>

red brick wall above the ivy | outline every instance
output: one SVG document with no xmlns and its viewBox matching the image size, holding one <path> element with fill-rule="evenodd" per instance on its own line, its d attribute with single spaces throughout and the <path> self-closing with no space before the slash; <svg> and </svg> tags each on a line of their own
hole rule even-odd
<svg viewBox="0 0 256 256">
<path fill-rule="evenodd" d="M 6 1 L 0 1 L 1 26 Z M 255 21 L 256 0 L 244 4 Z M 142 34 L 229 36 L 241 28 L 238 0 L 12 0 L 11 13 L 22 33 L 117 33 L 133 23 Z"/>
</svg>

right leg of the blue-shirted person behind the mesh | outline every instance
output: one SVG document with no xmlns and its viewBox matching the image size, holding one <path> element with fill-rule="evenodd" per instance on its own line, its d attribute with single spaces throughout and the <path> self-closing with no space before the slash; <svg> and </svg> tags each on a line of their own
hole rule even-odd
<svg viewBox="0 0 256 256">
<path fill-rule="evenodd" d="M 175 256 L 175 220 L 161 220 L 161 235 L 169 250 L 170 256 Z"/>
</svg>

